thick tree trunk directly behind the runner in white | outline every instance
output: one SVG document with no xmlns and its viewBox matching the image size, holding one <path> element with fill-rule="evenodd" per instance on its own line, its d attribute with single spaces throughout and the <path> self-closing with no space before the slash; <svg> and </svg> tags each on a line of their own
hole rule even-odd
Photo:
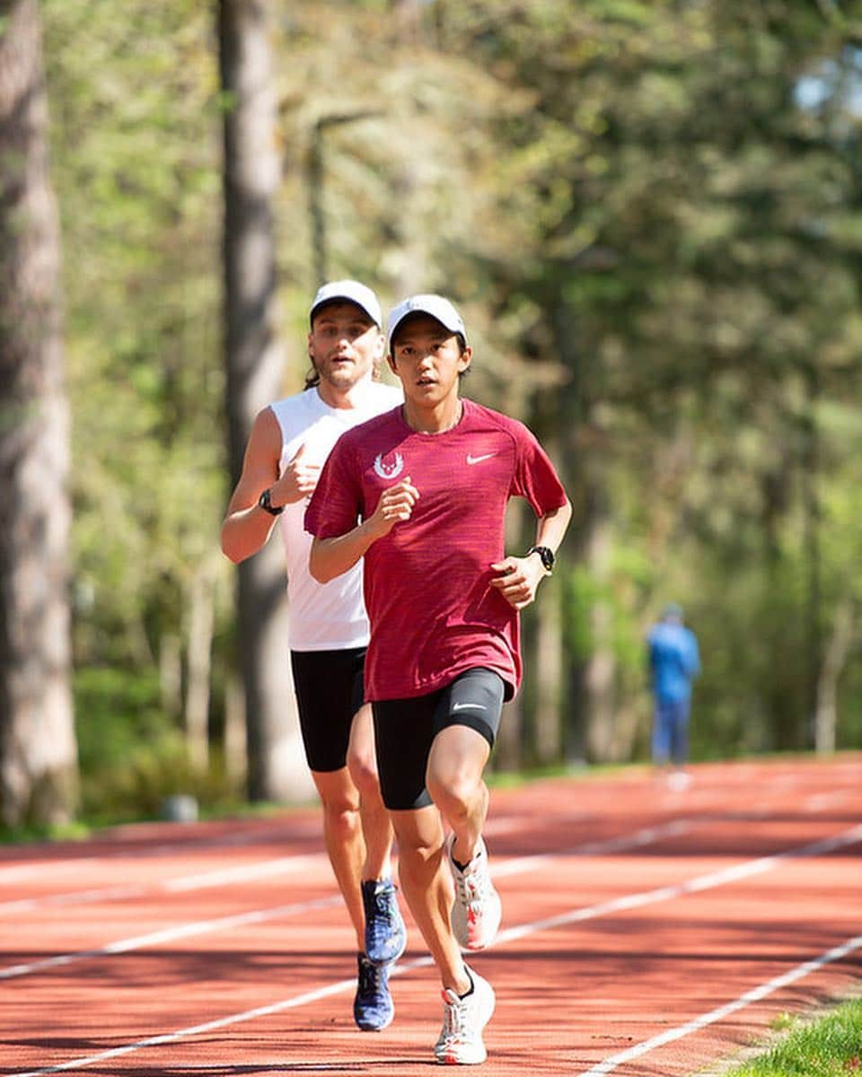
<svg viewBox="0 0 862 1077">
<path fill-rule="evenodd" d="M 224 116 L 226 409 L 234 484 L 254 417 L 281 389 L 276 339 L 273 202 L 281 180 L 272 76 L 270 5 L 220 0 Z M 283 555 L 278 543 L 239 567 L 239 665 L 246 691 L 249 795 L 295 801 L 312 789 L 288 663 Z"/>
</svg>

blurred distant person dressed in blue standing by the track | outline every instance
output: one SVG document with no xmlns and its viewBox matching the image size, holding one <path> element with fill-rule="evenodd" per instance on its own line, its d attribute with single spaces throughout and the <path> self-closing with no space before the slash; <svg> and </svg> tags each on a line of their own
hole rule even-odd
<svg viewBox="0 0 862 1077">
<path fill-rule="evenodd" d="M 653 763 L 672 767 L 671 784 L 683 787 L 689 778 L 689 718 L 692 682 L 700 672 L 697 637 L 683 624 L 682 607 L 671 602 L 648 637 L 650 675 L 655 700 Z"/>
</svg>

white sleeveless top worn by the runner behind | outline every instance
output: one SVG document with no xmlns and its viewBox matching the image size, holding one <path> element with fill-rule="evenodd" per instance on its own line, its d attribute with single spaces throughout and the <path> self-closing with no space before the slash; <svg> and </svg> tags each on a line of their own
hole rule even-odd
<svg viewBox="0 0 862 1077">
<path fill-rule="evenodd" d="M 305 458 L 321 466 L 340 435 L 366 419 L 398 407 L 400 389 L 371 381 L 354 407 L 334 408 L 317 389 L 276 401 L 269 407 L 281 428 L 279 474 L 305 445 Z M 308 499 L 286 505 L 278 517 L 288 568 L 291 651 L 346 651 L 369 642 L 369 618 L 362 598 L 362 561 L 328 584 L 319 584 L 308 572 L 311 535 L 305 530 Z"/>
</svg>

